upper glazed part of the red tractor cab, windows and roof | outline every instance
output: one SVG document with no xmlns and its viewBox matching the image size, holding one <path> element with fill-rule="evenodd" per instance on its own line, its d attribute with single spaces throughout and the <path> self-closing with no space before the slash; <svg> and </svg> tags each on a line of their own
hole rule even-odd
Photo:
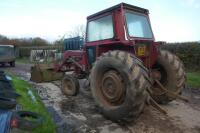
<svg viewBox="0 0 200 133">
<path fill-rule="evenodd" d="M 88 16 L 87 45 L 97 41 L 104 44 L 108 41 L 154 41 L 148 14 L 147 9 L 121 3 Z"/>
</svg>

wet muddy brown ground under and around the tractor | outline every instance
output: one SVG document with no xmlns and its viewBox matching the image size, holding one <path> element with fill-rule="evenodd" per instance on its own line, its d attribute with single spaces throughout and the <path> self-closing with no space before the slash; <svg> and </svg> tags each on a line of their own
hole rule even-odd
<svg viewBox="0 0 200 133">
<path fill-rule="evenodd" d="M 30 66 L 17 64 L 15 68 L 0 68 L 30 78 Z M 81 86 L 83 80 L 79 81 Z M 183 95 L 190 100 L 179 100 L 162 105 L 168 112 L 161 114 L 147 106 L 134 123 L 114 123 L 98 111 L 91 92 L 81 87 L 76 97 L 65 97 L 60 91 L 60 81 L 35 84 L 45 106 L 63 133 L 200 133 L 200 89 L 187 87 Z"/>
</svg>

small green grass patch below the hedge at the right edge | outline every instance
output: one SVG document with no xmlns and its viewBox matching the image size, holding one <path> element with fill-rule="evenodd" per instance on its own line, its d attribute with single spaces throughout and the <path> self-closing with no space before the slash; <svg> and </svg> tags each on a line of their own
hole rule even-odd
<svg viewBox="0 0 200 133">
<path fill-rule="evenodd" d="M 195 88 L 200 88 L 200 72 L 188 72 L 187 85 Z"/>
</svg>

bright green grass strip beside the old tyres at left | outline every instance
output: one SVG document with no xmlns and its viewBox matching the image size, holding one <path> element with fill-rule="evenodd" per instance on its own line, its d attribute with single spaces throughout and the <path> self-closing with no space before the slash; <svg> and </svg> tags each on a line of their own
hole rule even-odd
<svg viewBox="0 0 200 133">
<path fill-rule="evenodd" d="M 54 133 L 56 126 L 53 123 L 52 118 L 49 116 L 40 97 L 37 95 L 37 92 L 32 89 L 32 86 L 28 82 L 13 75 L 12 78 L 16 91 L 21 95 L 21 97 L 17 99 L 17 103 L 22 105 L 23 110 L 36 112 L 44 117 L 44 123 L 37 129 L 33 130 L 32 133 Z M 36 97 L 36 102 L 32 101 L 31 97 L 28 95 L 27 88 L 32 90 L 34 96 Z"/>
</svg>

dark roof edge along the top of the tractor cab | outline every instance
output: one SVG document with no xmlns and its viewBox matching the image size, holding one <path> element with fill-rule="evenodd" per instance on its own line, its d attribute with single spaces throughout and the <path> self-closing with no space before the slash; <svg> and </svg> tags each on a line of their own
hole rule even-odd
<svg viewBox="0 0 200 133">
<path fill-rule="evenodd" d="M 126 3 L 120 3 L 118 5 L 112 6 L 110 8 L 107 8 L 107 9 L 102 10 L 100 12 L 97 12 L 95 14 L 92 14 L 92 15 L 88 16 L 87 19 L 91 19 L 91 18 L 97 17 L 97 16 L 102 15 L 104 13 L 113 12 L 114 10 L 120 9 L 120 8 L 132 10 L 132 11 L 143 13 L 143 14 L 148 14 L 149 13 L 148 9 L 137 7 L 137 6 L 126 4 Z"/>
</svg>

